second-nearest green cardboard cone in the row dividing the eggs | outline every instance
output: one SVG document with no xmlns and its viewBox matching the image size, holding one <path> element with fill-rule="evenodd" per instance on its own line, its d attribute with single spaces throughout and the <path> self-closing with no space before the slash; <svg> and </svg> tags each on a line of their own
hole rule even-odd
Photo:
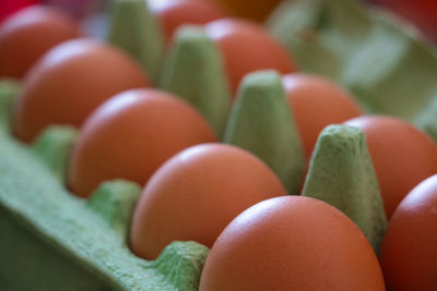
<svg viewBox="0 0 437 291">
<path fill-rule="evenodd" d="M 298 194 L 305 159 L 281 76 L 276 72 L 260 71 L 244 78 L 229 114 L 224 142 L 261 158 L 290 194 Z"/>
</svg>

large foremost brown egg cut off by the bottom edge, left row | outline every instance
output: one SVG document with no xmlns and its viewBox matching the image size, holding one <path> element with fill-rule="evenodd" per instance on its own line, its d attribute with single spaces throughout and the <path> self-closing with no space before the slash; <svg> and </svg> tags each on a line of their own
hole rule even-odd
<svg viewBox="0 0 437 291">
<path fill-rule="evenodd" d="M 324 202 L 283 196 L 250 207 L 225 228 L 199 290 L 377 291 L 385 283 L 352 220 Z"/>
</svg>

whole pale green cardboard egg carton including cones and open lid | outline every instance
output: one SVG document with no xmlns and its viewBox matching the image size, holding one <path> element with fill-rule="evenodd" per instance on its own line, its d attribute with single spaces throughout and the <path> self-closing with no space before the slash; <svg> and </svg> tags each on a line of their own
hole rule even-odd
<svg viewBox="0 0 437 291">
<path fill-rule="evenodd" d="M 158 87 L 192 104 L 223 142 L 262 158 L 298 193 L 305 161 L 277 73 L 246 76 L 231 106 L 220 53 L 201 27 L 179 29 L 164 59 L 158 23 L 142 0 L 113 9 L 109 43 L 137 58 Z M 303 71 L 340 82 L 368 112 L 401 117 L 437 140 L 436 56 L 399 23 L 404 27 L 352 0 L 294 0 L 268 27 Z M 64 179 L 76 130 L 51 126 L 32 145 L 15 140 L 19 90 L 13 82 L 0 85 L 1 290 L 197 290 L 209 248 L 173 242 L 155 260 L 133 255 L 128 233 L 141 187 L 116 180 L 88 199 L 71 194 Z M 387 220 L 359 130 L 330 125 L 320 134 L 302 190 L 310 193 L 345 213 L 378 252 Z"/>
</svg>

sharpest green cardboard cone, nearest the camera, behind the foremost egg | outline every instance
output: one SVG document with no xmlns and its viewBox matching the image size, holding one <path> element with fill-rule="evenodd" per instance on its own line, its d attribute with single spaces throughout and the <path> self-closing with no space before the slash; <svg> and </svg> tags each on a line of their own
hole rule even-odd
<svg viewBox="0 0 437 291">
<path fill-rule="evenodd" d="M 359 129 L 329 125 L 320 133 L 302 195 L 343 211 L 379 254 L 387 218 L 366 137 Z"/>
</svg>

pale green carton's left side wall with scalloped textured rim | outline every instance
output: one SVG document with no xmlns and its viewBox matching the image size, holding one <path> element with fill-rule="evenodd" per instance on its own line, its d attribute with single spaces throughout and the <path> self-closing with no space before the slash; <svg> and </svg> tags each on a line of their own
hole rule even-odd
<svg viewBox="0 0 437 291">
<path fill-rule="evenodd" d="M 33 146 L 9 131 L 16 86 L 0 89 L 1 290 L 197 290 L 209 253 L 174 242 L 153 262 L 133 255 L 128 229 L 139 185 L 108 181 L 88 199 L 64 186 L 75 130 L 47 129 Z"/>
</svg>

